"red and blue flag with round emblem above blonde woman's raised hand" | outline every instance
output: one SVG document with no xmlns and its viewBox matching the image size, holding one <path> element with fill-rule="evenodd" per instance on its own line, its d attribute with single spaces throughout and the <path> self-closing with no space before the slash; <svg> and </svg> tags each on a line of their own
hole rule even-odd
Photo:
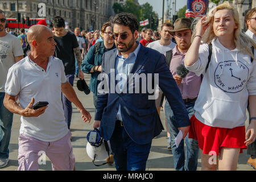
<svg viewBox="0 0 256 182">
<path fill-rule="evenodd" d="M 188 0 L 186 17 L 201 18 L 207 12 L 209 0 Z"/>
</svg>

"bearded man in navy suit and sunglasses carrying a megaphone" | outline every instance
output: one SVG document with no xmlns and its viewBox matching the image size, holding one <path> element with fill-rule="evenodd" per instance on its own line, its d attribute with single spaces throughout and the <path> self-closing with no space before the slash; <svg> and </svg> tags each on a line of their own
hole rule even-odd
<svg viewBox="0 0 256 182">
<path fill-rule="evenodd" d="M 133 14 L 111 18 L 115 46 L 102 56 L 102 81 L 93 127 L 110 140 L 115 168 L 146 169 L 152 138 L 163 130 L 152 96 L 152 83 L 162 89 L 186 137 L 189 117 L 165 56 L 136 42 L 139 23 Z M 155 84 L 156 83 L 156 84 Z"/>
</svg>

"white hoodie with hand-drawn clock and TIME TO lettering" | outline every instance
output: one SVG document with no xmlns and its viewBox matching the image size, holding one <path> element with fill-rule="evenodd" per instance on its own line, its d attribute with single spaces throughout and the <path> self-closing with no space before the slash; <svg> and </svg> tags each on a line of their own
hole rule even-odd
<svg viewBox="0 0 256 182">
<path fill-rule="evenodd" d="M 232 129 L 244 126 L 249 95 L 256 94 L 256 61 L 238 48 L 230 51 L 218 38 L 212 40 L 212 57 L 208 63 L 209 47 L 199 48 L 199 60 L 189 71 L 204 75 L 195 103 L 196 118 L 208 126 Z M 255 57 L 254 57 L 255 59 Z"/>
</svg>

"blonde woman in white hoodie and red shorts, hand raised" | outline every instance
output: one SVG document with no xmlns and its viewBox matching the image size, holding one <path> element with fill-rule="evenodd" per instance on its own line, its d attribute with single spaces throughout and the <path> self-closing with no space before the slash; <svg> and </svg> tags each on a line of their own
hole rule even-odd
<svg viewBox="0 0 256 182">
<path fill-rule="evenodd" d="M 204 44 L 201 44 L 203 41 Z M 212 56 L 209 46 L 212 44 Z M 185 67 L 204 75 L 189 138 L 197 139 L 202 170 L 236 170 L 238 156 L 255 140 L 256 61 L 253 39 L 241 32 L 236 9 L 224 2 L 196 24 Z M 249 98 L 251 123 L 245 131 Z"/>
</svg>

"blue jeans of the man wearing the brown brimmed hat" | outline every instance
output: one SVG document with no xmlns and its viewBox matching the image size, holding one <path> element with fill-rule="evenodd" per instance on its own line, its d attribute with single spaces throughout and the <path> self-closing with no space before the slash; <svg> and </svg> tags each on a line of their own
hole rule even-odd
<svg viewBox="0 0 256 182">
<path fill-rule="evenodd" d="M 195 101 L 189 102 L 185 104 L 189 118 L 195 113 L 193 109 L 195 105 Z M 177 171 L 196 171 L 197 168 L 197 158 L 199 155 L 199 146 L 198 142 L 195 139 L 191 139 L 185 137 L 186 151 L 184 154 L 184 139 L 181 140 L 179 147 L 176 147 L 174 139 L 177 137 L 179 133 L 177 121 L 175 119 L 175 115 L 172 112 L 171 106 L 168 101 L 166 101 L 166 105 L 164 106 L 164 111 L 167 118 L 168 128 L 171 134 L 171 147 L 172 154 L 174 156 L 174 168 Z M 186 159 L 186 160 L 185 160 Z"/>
</svg>

